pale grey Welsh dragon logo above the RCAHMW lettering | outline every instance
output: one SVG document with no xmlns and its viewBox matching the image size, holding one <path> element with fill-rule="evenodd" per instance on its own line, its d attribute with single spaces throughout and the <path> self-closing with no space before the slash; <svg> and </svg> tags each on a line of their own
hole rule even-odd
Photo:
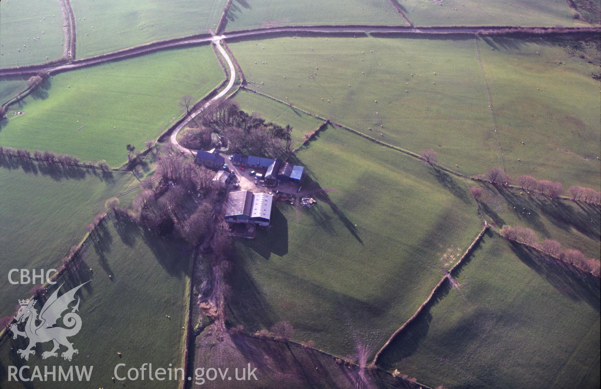
<svg viewBox="0 0 601 389">
<path fill-rule="evenodd" d="M 56 351 L 61 345 L 67 347 L 67 350 L 61 354 L 65 360 L 70 361 L 73 358 L 73 354 L 79 353 L 77 349 L 73 348 L 73 343 L 67 339 L 67 337 L 74 336 L 81 330 L 81 317 L 75 313 L 79 310 L 79 297 L 75 306 L 70 308 L 71 312 L 67 312 L 64 316 L 62 315 L 63 312 L 69 309 L 69 304 L 75 301 L 75 293 L 88 282 L 84 282 L 69 292 L 64 293 L 61 297 L 58 297 L 58 291 L 64 283 L 61 284 L 48 298 L 39 316 L 37 309 L 35 309 L 36 300 L 19 300 L 19 312 L 14 316 L 16 323 L 10 326 L 10 330 L 13 332 L 13 339 L 17 339 L 17 336 L 29 339 L 29 345 L 25 349 L 17 350 L 17 354 L 21 358 L 24 358 L 26 361 L 29 360 L 29 355 L 35 354 L 34 348 L 37 343 L 46 343 L 50 342 L 50 340 L 53 343 L 52 351 L 44 351 L 41 354 L 43 359 L 58 357 Z M 58 327 L 56 324 L 61 316 L 63 317 L 63 325 L 68 328 Z M 23 323 L 25 324 L 25 331 L 20 331 L 19 325 Z"/>
</svg>

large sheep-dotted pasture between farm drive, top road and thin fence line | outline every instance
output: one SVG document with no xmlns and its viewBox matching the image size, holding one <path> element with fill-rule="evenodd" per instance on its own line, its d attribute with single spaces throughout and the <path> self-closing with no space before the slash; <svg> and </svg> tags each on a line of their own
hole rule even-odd
<svg viewBox="0 0 601 389">
<path fill-rule="evenodd" d="M 499 163 L 473 38 L 284 37 L 230 47 L 250 88 L 410 151 L 434 148 L 468 174 Z"/>
</svg>

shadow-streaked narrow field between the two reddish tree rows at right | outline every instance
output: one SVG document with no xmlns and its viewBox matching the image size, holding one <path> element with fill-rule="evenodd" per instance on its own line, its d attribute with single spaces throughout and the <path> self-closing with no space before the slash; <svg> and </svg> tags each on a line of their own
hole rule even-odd
<svg viewBox="0 0 601 389">
<path fill-rule="evenodd" d="M 588 204 L 571 201 L 550 201 L 533 193 L 528 196 L 520 189 L 497 190 L 481 184 L 484 194 L 480 209 L 488 223 L 525 226 L 533 229 L 538 240 L 554 239 L 564 250 L 580 250 L 588 258 L 601 258 L 601 210 Z"/>
</svg>

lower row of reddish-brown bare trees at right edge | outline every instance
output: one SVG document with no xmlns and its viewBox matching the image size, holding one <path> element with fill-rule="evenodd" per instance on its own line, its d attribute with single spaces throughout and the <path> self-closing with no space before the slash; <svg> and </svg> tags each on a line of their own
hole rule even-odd
<svg viewBox="0 0 601 389">
<path fill-rule="evenodd" d="M 561 244 L 556 240 L 547 239 L 542 244 L 539 244 L 537 235 L 529 228 L 505 225 L 499 234 L 508 241 L 525 244 L 566 264 L 591 273 L 596 277 L 601 276 L 601 262 L 593 258 L 587 259 L 579 250 L 563 250 Z"/>
</svg>

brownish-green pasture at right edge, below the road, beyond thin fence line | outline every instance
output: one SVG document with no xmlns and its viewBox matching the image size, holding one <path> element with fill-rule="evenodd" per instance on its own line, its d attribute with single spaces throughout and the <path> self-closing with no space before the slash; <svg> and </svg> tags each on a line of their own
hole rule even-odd
<svg viewBox="0 0 601 389">
<path fill-rule="evenodd" d="M 495 37 L 478 47 L 507 173 L 599 190 L 598 40 Z"/>
</svg>

